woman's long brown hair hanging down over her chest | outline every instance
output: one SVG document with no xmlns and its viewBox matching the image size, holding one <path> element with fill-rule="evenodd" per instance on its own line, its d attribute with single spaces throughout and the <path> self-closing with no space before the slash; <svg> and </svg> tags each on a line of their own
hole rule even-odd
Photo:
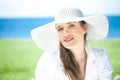
<svg viewBox="0 0 120 80">
<path fill-rule="evenodd" d="M 86 24 L 85 21 L 80 21 L 81 26 L 83 26 L 84 24 Z M 84 39 L 86 39 L 86 34 L 84 36 Z M 75 56 L 69 49 L 65 48 L 61 42 L 60 58 L 63 63 L 64 72 L 71 80 L 83 80 L 79 64 L 77 63 Z"/>
</svg>

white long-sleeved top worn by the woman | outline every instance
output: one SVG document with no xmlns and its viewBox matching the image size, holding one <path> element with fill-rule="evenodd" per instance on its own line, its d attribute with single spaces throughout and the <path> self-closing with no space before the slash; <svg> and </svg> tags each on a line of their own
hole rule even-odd
<svg viewBox="0 0 120 80">
<path fill-rule="evenodd" d="M 112 65 L 104 50 L 86 47 L 88 59 L 85 80 L 112 80 Z M 58 49 L 50 49 L 40 57 L 35 80 L 69 80 L 63 72 Z"/>
</svg>

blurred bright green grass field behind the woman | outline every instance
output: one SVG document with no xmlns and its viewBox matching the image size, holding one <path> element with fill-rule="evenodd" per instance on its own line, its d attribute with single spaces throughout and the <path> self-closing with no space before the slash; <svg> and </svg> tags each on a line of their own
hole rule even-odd
<svg viewBox="0 0 120 80">
<path fill-rule="evenodd" d="M 120 74 L 120 39 L 101 40 L 92 46 L 108 52 L 115 74 Z M 0 39 L 0 80 L 31 80 L 42 54 L 31 40 Z"/>
</svg>

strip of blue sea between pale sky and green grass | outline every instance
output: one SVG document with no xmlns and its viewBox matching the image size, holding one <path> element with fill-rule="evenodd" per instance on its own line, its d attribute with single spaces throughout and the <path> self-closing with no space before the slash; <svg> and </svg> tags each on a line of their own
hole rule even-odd
<svg viewBox="0 0 120 80">
<path fill-rule="evenodd" d="M 120 15 L 107 16 L 109 32 L 107 38 L 120 38 Z M 30 31 L 53 21 L 53 17 L 40 18 L 0 18 L 0 39 L 31 39 Z"/>
</svg>

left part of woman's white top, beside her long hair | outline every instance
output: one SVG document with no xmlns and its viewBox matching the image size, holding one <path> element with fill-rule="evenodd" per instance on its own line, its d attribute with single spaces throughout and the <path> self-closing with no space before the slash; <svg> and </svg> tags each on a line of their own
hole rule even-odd
<svg viewBox="0 0 120 80">
<path fill-rule="evenodd" d="M 37 63 L 35 78 L 36 80 L 63 80 L 58 79 L 65 77 L 61 67 L 62 62 L 59 57 L 59 50 L 47 50 Z"/>
</svg>

